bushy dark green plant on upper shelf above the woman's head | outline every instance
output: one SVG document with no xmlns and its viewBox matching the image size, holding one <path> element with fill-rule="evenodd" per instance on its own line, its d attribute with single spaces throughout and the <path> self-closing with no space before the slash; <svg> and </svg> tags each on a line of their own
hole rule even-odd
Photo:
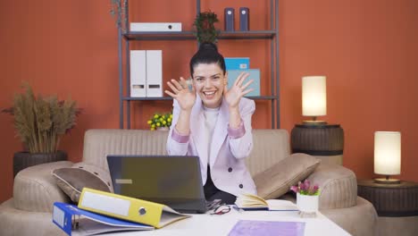
<svg viewBox="0 0 418 236">
<path fill-rule="evenodd" d="M 215 29 L 214 23 L 218 21 L 218 16 L 211 11 L 197 14 L 193 26 L 195 27 L 195 35 L 199 43 L 217 42 L 219 30 Z"/>
</svg>

